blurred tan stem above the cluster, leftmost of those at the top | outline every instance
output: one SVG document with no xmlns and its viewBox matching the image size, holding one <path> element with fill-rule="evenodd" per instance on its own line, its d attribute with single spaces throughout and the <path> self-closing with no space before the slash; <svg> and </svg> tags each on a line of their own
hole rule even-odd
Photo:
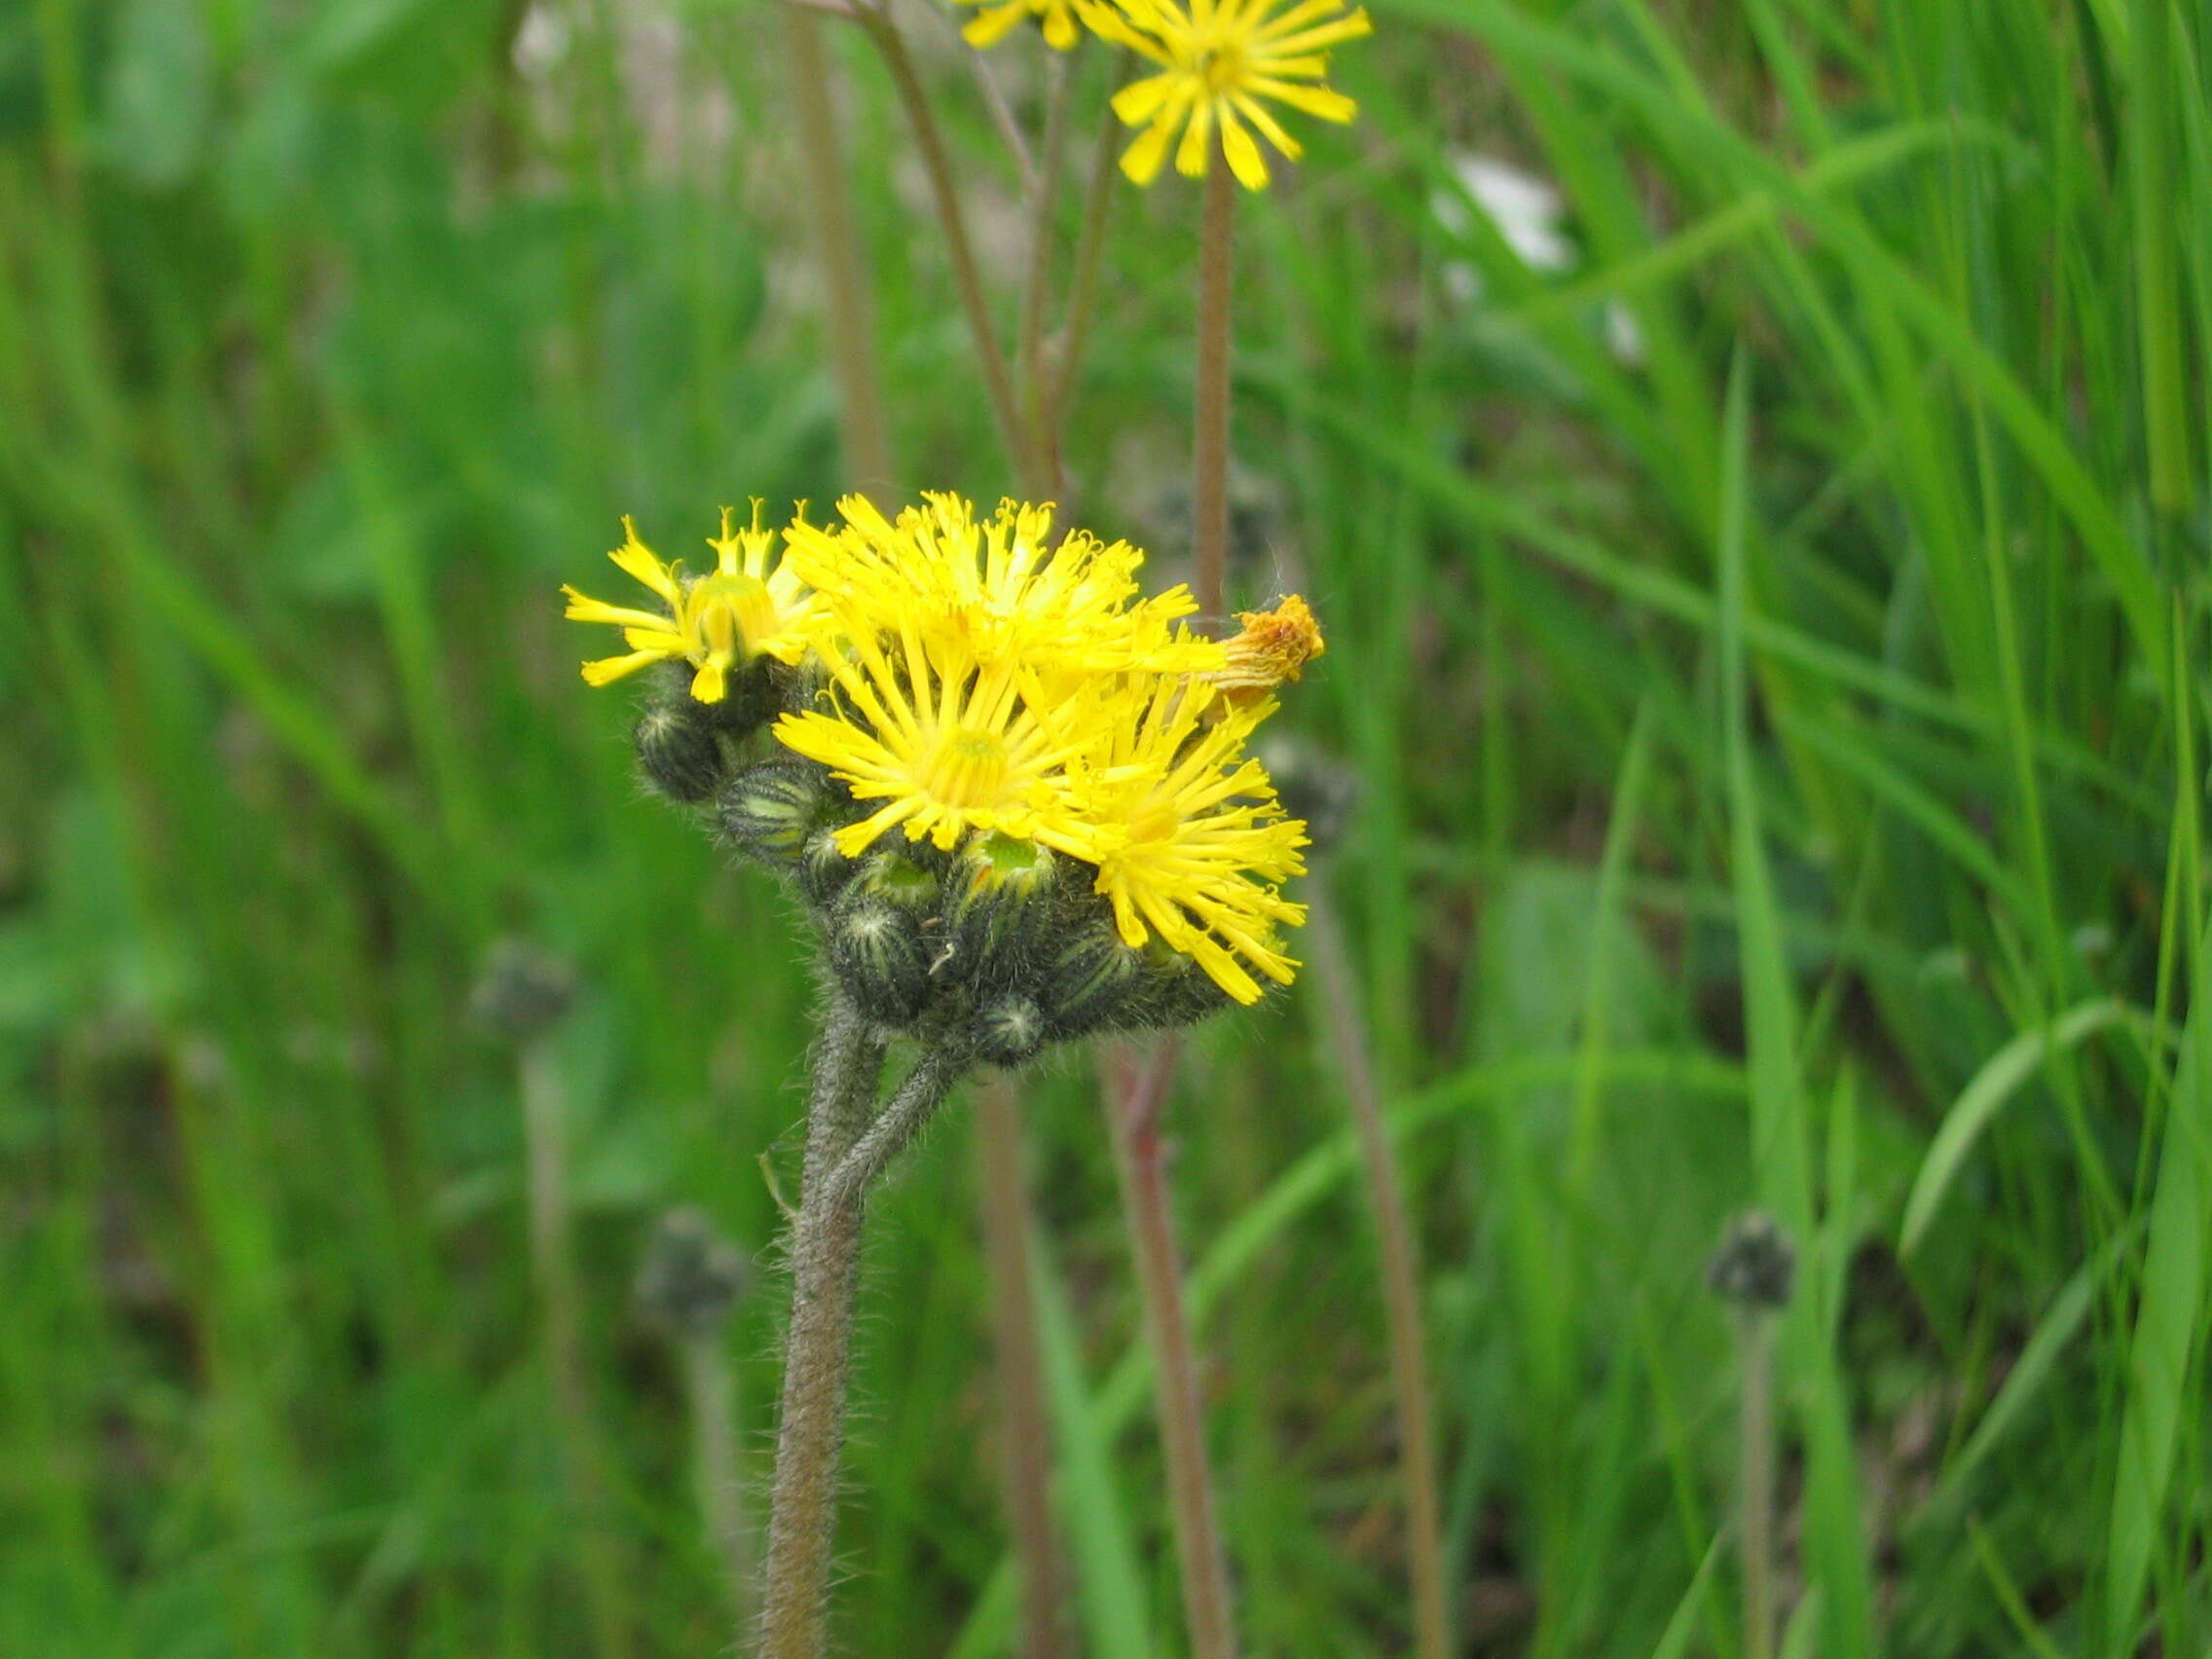
<svg viewBox="0 0 2212 1659">
<path fill-rule="evenodd" d="M 823 270 L 838 438 L 845 465 L 860 489 L 889 493 L 891 440 L 876 392 L 876 325 L 867 299 L 867 268 L 860 263 L 845 146 L 830 102 L 830 55 L 823 51 L 821 20 L 801 7 L 783 7 L 783 46 L 792 66 L 792 100 L 799 106 L 799 153 L 812 206 L 814 257 Z"/>
</svg>

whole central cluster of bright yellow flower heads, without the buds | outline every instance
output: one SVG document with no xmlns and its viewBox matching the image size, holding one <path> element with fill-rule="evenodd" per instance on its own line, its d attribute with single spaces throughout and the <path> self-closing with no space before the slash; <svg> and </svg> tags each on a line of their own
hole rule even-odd
<svg viewBox="0 0 2212 1659">
<path fill-rule="evenodd" d="M 894 827 L 947 852 L 975 834 L 1035 841 L 1095 867 L 1124 945 L 1157 936 L 1239 1002 L 1259 1000 L 1254 973 L 1287 984 L 1279 929 L 1305 911 L 1281 883 L 1303 874 L 1305 825 L 1245 741 L 1272 688 L 1323 650 L 1303 599 L 1214 641 L 1183 622 L 1186 588 L 1141 595 L 1141 551 L 1055 540 L 1051 507 L 1002 502 L 978 520 L 958 495 L 927 495 L 891 520 L 849 495 L 838 513 L 834 526 L 794 515 L 772 560 L 759 504 L 748 531 L 726 511 L 714 571 L 697 577 L 624 520 L 611 557 L 668 615 L 564 588 L 568 617 L 615 624 L 630 646 L 584 679 L 679 659 L 690 695 L 719 703 L 759 657 L 818 672 L 772 730 L 863 807 L 836 832 L 845 856 Z"/>
</svg>

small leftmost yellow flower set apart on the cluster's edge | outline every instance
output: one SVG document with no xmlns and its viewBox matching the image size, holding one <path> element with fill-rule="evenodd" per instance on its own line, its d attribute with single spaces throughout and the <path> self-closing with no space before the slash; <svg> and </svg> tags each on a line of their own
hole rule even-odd
<svg viewBox="0 0 2212 1659">
<path fill-rule="evenodd" d="M 710 535 L 714 568 L 686 577 L 684 562 L 661 560 L 637 540 L 637 526 L 622 520 L 624 542 L 611 557 L 622 571 L 644 582 L 668 606 L 668 613 L 588 599 L 571 586 L 566 617 L 571 622 L 606 622 L 622 628 L 624 657 L 599 657 L 584 664 L 584 679 L 606 686 L 624 675 L 666 657 L 681 657 L 692 675 L 692 697 L 719 703 L 728 692 L 732 668 L 768 655 L 794 664 L 805 655 L 818 602 L 792 564 L 768 566 L 774 533 L 761 529 L 761 502 L 752 504 L 752 529 L 732 529 L 732 513 L 721 509 L 721 535 Z"/>
</svg>

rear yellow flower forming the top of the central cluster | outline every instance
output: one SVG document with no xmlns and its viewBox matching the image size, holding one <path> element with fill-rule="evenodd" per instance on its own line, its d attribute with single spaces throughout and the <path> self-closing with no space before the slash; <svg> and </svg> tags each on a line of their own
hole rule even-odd
<svg viewBox="0 0 2212 1659">
<path fill-rule="evenodd" d="M 1228 657 L 1177 626 L 1197 611 L 1181 584 L 1137 599 L 1144 553 L 1075 531 L 1053 542 L 1053 509 L 975 509 L 949 493 L 887 520 L 865 495 L 838 502 L 845 524 L 792 524 L 790 562 L 816 591 L 878 630 L 914 622 L 933 646 L 984 666 L 1022 664 L 1042 679 L 1150 668 L 1208 672 Z"/>
</svg>

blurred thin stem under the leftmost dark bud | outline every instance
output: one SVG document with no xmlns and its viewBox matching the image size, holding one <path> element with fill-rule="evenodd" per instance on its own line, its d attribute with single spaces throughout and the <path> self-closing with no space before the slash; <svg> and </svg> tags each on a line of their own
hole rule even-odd
<svg viewBox="0 0 2212 1659">
<path fill-rule="evenodd" d="M 597 1652 L 619 1659 L 630 1650 L 624 1613 L 622 1566 L 606 1528 L 599 1438 L 591 1418 L 584 1380 L 584 1314 L 568 1248 L 568 1130 L 566 1091 L 551 1037 L 522 1044 L 522 1139 L 529 1159 L 531 1274 L 544 1307 L 546 1378 L 553 1387 L 553 1422 L 560 1433 L 568 1502 L 577 1513 L 577 1553 L 584 1568 L 584 1599 Z"/>
</svg>

